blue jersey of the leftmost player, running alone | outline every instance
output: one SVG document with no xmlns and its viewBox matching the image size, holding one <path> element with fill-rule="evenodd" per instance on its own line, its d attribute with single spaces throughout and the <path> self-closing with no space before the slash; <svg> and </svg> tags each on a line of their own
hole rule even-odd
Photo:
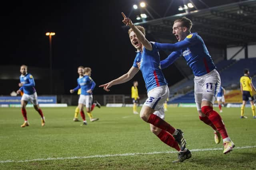
<svg viewBox="0 0 256 170">
<path fill-rule="evenodd" d="M 20 87 L 20 90 L 22 90 L 24 94 L 31 95 L 34 94 L 34 92 L 36 92 L 36 84 L 31 74 L 27 73 L 26 75 L 21 75 L 20 82 L 23 84 L 23 86 Z"/>
</svg>

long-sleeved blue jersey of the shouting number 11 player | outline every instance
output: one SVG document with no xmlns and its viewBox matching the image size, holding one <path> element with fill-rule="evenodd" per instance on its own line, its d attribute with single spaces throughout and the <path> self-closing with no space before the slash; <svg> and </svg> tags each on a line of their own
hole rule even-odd
<svg viewBox="0 0 256 170">
<path fill-rule="evenodd" d="M 191 33 L 183 41 L 175 44 L 156 43 L 156 45 L 162 50 L 171 51 L 178 49 L 173 51 L 165 60 L 161 61 L 163 68 L 172 64 L 180 56 L 187 61 L 188 66 L 190 66 L 195 76 L 202 76 L 216 68 L 203 39 L 197 33 Z"/>
</svg>

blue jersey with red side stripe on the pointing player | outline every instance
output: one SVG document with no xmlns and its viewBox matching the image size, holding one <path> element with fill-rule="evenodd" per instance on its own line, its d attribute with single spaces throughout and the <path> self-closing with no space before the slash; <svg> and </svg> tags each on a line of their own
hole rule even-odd
<svg viewBox="0 0 256 170">
<path fill-rule="evenodd" d="M 138 68 L 137 63 L 140 62 L 140 70 L 144 78 L 147 91 L 158 87 L 167 85 L 164 74 L 160 67 L 160 56 L 158 49 L 151 43 L 152 51 L 143 48 L 143 51 L 138 51 L 134 59 L 133 66 Z"/>
</svg>

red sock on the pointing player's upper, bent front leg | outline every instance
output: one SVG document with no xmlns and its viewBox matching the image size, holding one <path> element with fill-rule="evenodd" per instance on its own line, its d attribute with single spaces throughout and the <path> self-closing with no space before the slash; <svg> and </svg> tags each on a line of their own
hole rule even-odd
<svg viewBox="0 0 256 170">
<path fill-rule="evenodd" d="M 148 123 L 169 132 L 170 134 L 173 134 L 175 129 L 172 127 L 169 123 L 158 117 L 157 115 L 154 115 L 153 113 L 148 118 Z"/>
</svg>

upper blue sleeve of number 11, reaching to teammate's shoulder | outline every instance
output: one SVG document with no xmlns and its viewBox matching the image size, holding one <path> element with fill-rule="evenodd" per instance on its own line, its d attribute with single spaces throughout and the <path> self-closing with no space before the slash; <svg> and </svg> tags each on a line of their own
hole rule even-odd
<svg viewBox="0 0 256 170">
<path fill-rule="evenodd" d="M 167 43 L 155 43 L 156 47 L 159 50 L 163 50 L 163 51 L 178 51 L 184 48 L 188 48 L 191 45 L 194 45 L 198 42 L 198 38 L 196 35 L 192 35 L 191 37 L 189 37 L 190 35 L 188 35 L 183 41 L 179 41 L 177 43 L 174 44 L 167 44 Z"/>
</svg>

